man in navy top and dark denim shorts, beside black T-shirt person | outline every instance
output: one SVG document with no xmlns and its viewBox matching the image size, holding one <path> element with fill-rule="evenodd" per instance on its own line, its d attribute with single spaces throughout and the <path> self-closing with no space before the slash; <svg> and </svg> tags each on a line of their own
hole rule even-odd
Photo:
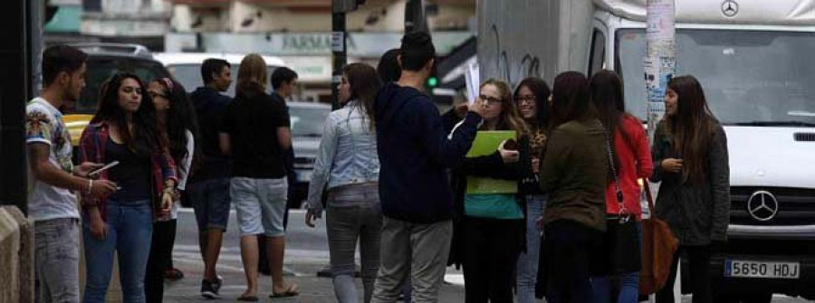
<svg viewBox="0 0 815 303">
<path fill-rule="evenodd" d="M 196 212 L 198 245 L 205 266 L 201 295 L 220 298 L 218 289 L 223 281 L 216 274 L 216 263 L 229 219 L 230 160 L 221 153 L 218 145 L 218 125 L 226 105 L 232 101 L 221 94 L 232 84 L 229 63 L 207 59 L 201 65 L 201 78 L 204 87 L 193 91 L 190 100 L 196 108 L 201 128 L 200 147 L 204 156 L 193 176 L 190 200 Z"/>
</svg>

